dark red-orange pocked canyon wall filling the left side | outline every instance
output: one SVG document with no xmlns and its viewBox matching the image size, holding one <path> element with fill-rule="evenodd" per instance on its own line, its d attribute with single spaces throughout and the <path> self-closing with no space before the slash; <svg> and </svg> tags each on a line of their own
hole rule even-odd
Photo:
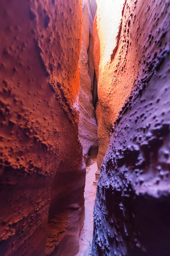
<svg viewBox="0 0 170 256">
<path fill-rule="evenodd" d="M 0 255 L 76 255 L 81 0 L 1 1 Z"/>
</svg>

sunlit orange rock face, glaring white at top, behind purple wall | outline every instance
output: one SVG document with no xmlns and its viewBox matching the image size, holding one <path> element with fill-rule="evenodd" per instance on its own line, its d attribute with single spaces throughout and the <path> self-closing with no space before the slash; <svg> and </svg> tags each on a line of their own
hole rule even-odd
<svg viewBox="0 0 170 256">
<path fill-rule="evenodd" d="M 125 0 L 96 0 L 97 12 L 93 26 L 94 33 L 94 63 L 97 77 L 98 102 L 96 105 L 96 119 L 99 137 L 99 152 L 97 155 L 98 180 L 100 166 L 105 156 L 113 123 L 118 116 L 122 105 L 130 93 L 130 88 L 125 88 L 125 78 L 121 74 L 118 79 L 118 65 L 121 45 L 118 55 L 111 62 L 113 49 L 118 46 L 119 25 Z"/>
</svg>

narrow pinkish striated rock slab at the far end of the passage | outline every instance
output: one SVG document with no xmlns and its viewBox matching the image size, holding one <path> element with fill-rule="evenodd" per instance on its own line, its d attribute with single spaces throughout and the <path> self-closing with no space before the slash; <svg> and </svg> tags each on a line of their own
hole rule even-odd
<svg viewBox="0 0 170 256">
<path fill-rule="evenodd" d="M 95 85 L 93 22 L 96 1 L 83 1 L 82 46 L 79 58 L 79 137 L 82 142 L 86 165 L 97 157 L 98 137 L 95 118 Z M 94 92 L 94 93 L 93 93 Z M 93 97 L 94 96 L 94 97 Z"/>
</svg>

